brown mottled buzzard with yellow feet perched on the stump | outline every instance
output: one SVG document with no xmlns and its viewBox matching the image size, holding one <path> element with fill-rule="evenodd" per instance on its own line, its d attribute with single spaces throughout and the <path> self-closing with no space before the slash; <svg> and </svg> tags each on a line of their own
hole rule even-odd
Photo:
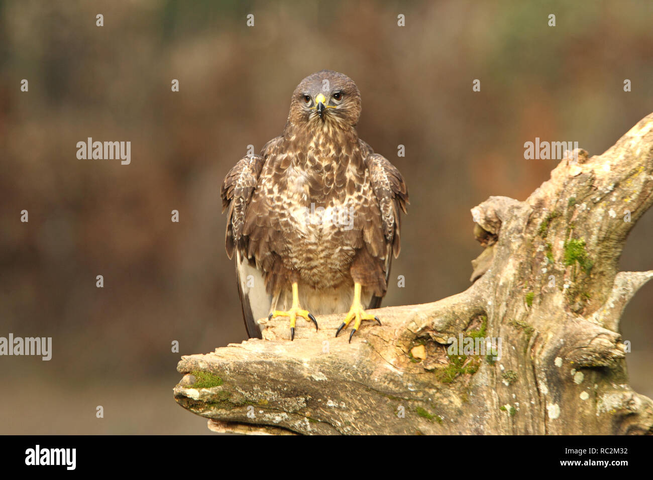
<svg viewBox="0 0 653 480">
<path fill-rule="evenodd" d="M 323 70 L 297 86 L 280 136 L 231 168 L 221 188 L 227 255 L 236 253 L 238 293 L 249 337 L 258 319 L 346 313 L 353 334 L 378 317 L 400 210 L 408 192 L 399 170 L 358 138 L 360 92 Z"/>
</svg>

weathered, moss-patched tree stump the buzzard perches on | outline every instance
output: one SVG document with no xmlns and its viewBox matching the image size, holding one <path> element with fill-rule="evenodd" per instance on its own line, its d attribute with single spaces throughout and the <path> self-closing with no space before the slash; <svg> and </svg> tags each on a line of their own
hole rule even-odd
<svg viewBox="0 0 653 480">
<path fill-rule="evenodd" d="M 263 340 L 182 357 L 174 398 L 219 432 L 652 434 L 619 320 L 653 271 L 617 268 L 653 202 L 653 114 L 603 155 L 574 153 L 526 201 L 471 210 L 486 249 L 466 291 L 381 308 L 383 327 L 351 344 L 334 338 L 342 315 L 294 342 L 287 323 L 262 320 Z M 452 353 L 461 335 L 501 351 Z"/>
</svg>

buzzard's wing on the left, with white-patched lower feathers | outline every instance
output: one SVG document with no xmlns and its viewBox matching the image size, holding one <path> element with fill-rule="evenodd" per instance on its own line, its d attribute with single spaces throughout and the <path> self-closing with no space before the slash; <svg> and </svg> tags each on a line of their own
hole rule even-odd
<svg viewBox="0 0 653 480">
<path fill-rule="evenodd" d="M 247 207 L 259 183 L 264 163 L 264 155 L 244 157 L 229 170 L 220 191 L 222 211 L 227 211 L 225 248 L 230 259 L 236 250 L 238 295 L 247 335 L 250 338 L 261 338 L 257 320 L 268 315 L 272 302 L 272 296 L 265 291 L 263 272 L 257 269 L 255 259 L 248 259 L 244 255 L 248 242 L 247 236 L 244 235 Z"/>
</svg>

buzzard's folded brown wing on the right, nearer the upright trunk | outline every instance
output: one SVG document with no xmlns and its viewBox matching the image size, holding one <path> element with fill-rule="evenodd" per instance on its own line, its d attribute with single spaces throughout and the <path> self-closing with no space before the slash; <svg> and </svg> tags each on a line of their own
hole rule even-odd
<svg viewBox="0 0 653 480">
<path fill-rule="evenodd" d="M 360 140 L 364 152 L 365 165 L 370 172 L 372 189 L 379 204 L 381 220 L 383 222 L 383 237 L 385 240 L 385 281 L 390 277 L 392 255 L 398 257 L 401 249 L 400 243 L 400 210 L 407 213 L 406 205 L 409 204 L 408 189 L 404 177 L 388 159 L 374 153 L 372 147 Z M 378 308 L 381 305 L 380 296 L 372 296 L 369 308 Z"/>
</svg>

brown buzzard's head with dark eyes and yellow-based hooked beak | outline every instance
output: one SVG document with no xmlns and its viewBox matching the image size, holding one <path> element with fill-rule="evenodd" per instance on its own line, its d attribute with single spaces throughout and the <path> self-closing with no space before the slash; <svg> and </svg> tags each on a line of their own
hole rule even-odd
<svg viewBox="0 0 653 480">
<path fill-rule="evenodd" d="M 347 129 L 360 118 L 360 92 L 347 75 L 323 70 L 313 73 L 295 89 L 288 120 L 297 126 L 328 125 Z"/>
</svg>

